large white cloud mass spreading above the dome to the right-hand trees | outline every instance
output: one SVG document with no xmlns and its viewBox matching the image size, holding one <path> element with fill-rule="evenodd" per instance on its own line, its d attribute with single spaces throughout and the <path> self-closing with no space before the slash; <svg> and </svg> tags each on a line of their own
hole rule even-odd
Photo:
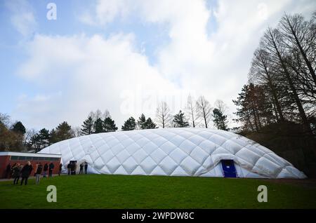
<svg viewBox="0 0 316 223">
<path fill-rule="evenodd" d="M 168 29 L 169 43 L 155 49 L 155 65 L 147 61 L 145 48 L 135 48 L 136 34 L 113 34 L 108 39 L 37 35 L 26 46 L 29 59 L 19 73 L 49 92 L 62 92 L 62 97 L 48 99 L 48 104 L 57 104 L 50 110 L 55 114 L 50 127 L 63 119 L 79 125 L 98 108 L 110 109 L 121 125 L 127 116 L 154 114 L 157 97 L 171 95 L 167 100 L 173 109 L 183 107 L 176 102 L 183 102 L 189 92 L 205 95 L 211 103 L 221 99 L 233 112 L 232 99 L 246 83 L 265 28 L 277 25 L 284 11 L 305 14 L 315 5 L 315 1 L 225 0 L 207 8 L 202 0 L 98 1 L 81 21 L 104 26 L 136 16 L 147 25 L 159 23 Z M 217 29 L 209 32 L 211 13 Z M 44 119 L 29 106 L 18 112 L 29 114 L 33 121 Z"/>
</svg>

